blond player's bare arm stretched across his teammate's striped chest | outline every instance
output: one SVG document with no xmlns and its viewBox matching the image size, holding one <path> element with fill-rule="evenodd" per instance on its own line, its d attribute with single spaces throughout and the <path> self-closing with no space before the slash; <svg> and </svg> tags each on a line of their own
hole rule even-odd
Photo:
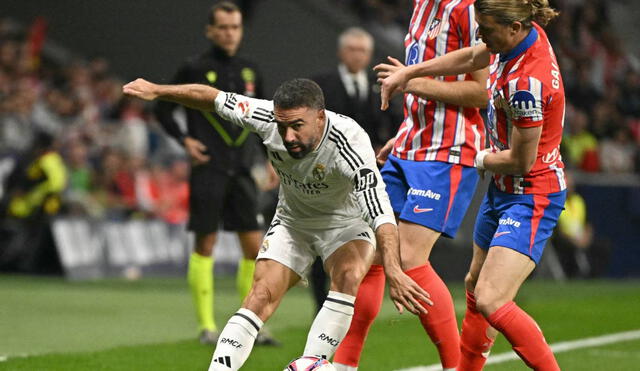
<svg viewBox="0 0 640 371">
<path fill-rule="evenodd" d="M 422 63 L 399 68 L 381 81 L 382 105 L 380 108 L 386 110 L 389 107 L 391 96 L 399 91 L 404 91 L 411 79 L 423 76 L 454 76 L 469 73 L 487 67 L 489 61 L 489 50 L 485 44 L 481 43 Z M 384 68 L 384 64 L 379 64 L 374 67 L 374 70 L 378 71 Z"/>
</svg>

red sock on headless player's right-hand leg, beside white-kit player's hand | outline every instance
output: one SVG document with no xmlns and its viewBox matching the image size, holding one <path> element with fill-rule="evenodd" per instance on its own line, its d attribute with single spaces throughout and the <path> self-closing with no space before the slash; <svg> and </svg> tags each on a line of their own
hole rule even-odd
<svg viewBox="0 0 640 371">
<path fill-rule="evenodd" d="M 431 295 L 433 305 L 425 306 L 429 313 L 420 315 L 420 322 L 438 348 L 442 368 L 456 368 L 460 361 L 460 335 L 451 293 L 430 263 L 405 273 Z"/>
</svg>

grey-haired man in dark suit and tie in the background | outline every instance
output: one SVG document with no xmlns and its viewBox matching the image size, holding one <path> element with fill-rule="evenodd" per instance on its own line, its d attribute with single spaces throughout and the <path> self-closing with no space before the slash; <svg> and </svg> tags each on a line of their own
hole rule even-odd
<svg viewBox="0 0 640 371">
<path fill-rule="evenodd" d="M 369 68 L 372 54 L 371 35 L 362 28 L 349 28 L 338 37 L 337 68 L 312 79 L 324 91 L 327 109 L 354 119 L 377 150 L 395 133 L 402 116 L 380 111 L 380 88 Z"/>
</svg>

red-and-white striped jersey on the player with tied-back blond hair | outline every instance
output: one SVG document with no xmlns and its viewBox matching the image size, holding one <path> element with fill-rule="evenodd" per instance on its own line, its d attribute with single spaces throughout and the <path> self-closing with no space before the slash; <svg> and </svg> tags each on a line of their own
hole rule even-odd
<svg viewBox="0 0 640 371">
<path fill-rule="evenodd" d="M 533 24 L 509 53 L 492 56 L 489 68 L 487 132 L 496 150 L 510 148 L 513 126 L 542 126 L 536 162 L 524 175 L 495 174 L 498 189 L 515 194 L 548 194 L 566 188 L 560 141 L 564 86 L 549 39 Z"/>
</svg>

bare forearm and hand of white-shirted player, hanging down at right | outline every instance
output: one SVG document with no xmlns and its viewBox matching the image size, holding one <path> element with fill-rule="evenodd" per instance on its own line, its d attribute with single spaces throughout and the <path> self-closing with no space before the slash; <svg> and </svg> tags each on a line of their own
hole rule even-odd
<svg viewBox="0 0 640 371">
<path fill-rule="evenodd" d="M 389 296 L 398 312 L 402 314 L 406 308 L 413 314 L 427 313 L 420 301 L 433 305 L 429 294 L 407 276 L 400 266 L 400 245 L 398 228 L 391 223 L 384 223 L 376 228 L 378 249 L 382 254 L 384 272 L 389 283 Z"/>
</svg>

